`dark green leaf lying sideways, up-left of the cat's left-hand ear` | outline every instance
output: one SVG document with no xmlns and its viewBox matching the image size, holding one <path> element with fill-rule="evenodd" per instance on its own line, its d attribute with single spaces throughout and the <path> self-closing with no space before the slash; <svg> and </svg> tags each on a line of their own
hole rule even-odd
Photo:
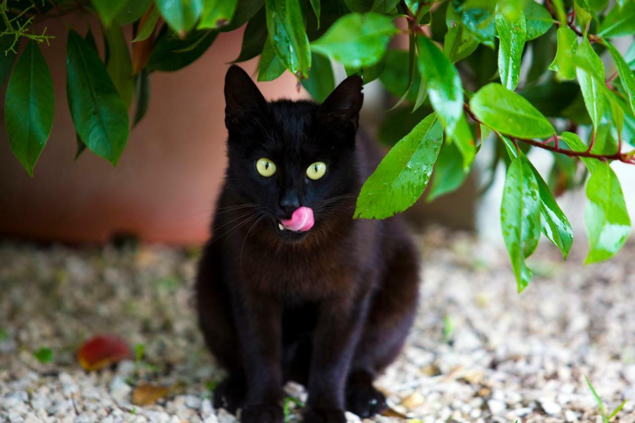
<svg viewBox="0 0 635 423">
<path fill-rule="evenodd" d="M 218 32 L 212 30 L 193 31 L 185 38 L 169 32 L 163 34 L 154 45 L 146 68 L 163 72 L 182 69 L 201 57 L 217 35 Z"/>
</svg>

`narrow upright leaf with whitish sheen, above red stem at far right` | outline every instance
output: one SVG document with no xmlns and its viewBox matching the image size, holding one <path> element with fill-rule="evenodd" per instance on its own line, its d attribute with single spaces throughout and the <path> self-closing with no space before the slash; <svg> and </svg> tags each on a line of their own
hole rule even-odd
<svg viewBox="0 0 635 423">
<path fill-rule="evenodd" d="M 584 104 L 591 116 L 593 128 L 597 130 L 604 114 L 604 64 L 587 39 L 578 47 L 575 63 Z"/>
</svg>

